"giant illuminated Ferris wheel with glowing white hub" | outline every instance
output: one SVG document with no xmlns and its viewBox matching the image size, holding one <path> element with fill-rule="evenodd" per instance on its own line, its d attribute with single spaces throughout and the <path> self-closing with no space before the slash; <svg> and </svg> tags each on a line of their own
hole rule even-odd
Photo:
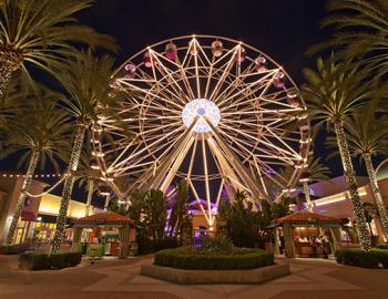
<svg viewBox="0 0 388 299">
<path fill-rule="evenodd" d="M 122 200 L 133 188 L 170 196 L 185 179 L 212 224 L 222 198 L 244 190 L 255 206 L 276 200 L 306 166 L 310 132 L 297 86 L 248 44 L 169 39 L 125 61 L 111 87 L 119 105 L 93 126 L 94 154 Z"/>
</svg>

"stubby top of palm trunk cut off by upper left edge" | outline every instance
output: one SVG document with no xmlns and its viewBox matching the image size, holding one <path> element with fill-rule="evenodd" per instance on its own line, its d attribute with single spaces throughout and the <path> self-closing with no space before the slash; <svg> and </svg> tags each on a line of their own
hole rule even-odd
<svg viewBox="0 0 388 299">
<path fill-rule="evenodd" d="M 20 69 L 22 62 L 19 53 L 0 49 L 0 97 L 3 96 L 12 73 Z"/>
</svg>

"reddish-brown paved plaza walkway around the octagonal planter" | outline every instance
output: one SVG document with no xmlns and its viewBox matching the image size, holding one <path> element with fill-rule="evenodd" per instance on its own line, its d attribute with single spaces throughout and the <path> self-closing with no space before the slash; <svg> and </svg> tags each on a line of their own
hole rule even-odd
<svg viewBox="0 0 388 299">
<path fill-rule="evenodd" d="M 279 259 L 292 275 L 257 286 L 178 286 L 140 276 L 151 257 L 105 259 L 60 271 L 17 270 L 17 258 L 0 256 L 0 298 L 4 299 L 337 299 L 385 298 L 388 270 L 346 267 L 329 260 Z"/>
</svg>

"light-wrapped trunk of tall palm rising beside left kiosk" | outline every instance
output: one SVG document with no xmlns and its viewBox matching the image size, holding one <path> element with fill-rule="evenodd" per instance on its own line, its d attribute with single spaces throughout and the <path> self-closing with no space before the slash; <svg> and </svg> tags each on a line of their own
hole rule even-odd
<svg viewBox="0 0 388 299">
<path fill-rule="evenodd" d="M 76 128 L 76 134 L 73 141 L 73 147 L 70 156 L 70 163 L 65 174 L 67 178 L 64 181 L 64 186 L 62 192 L 61 207 L 58 213 L 57 227 L 55 227 L 55 233 L 52 240 L 51 252 L 53 254 L 59 251 L 61 243 L 64 238 L 64 229 L 65 229 L 67 218 L 68 218 L 68 208 L 69 208 L 71 193 L 73 190 L 73 184 L 74 184 L 73 173 L 76 171 L 78 164 L 80 162 L 80 155 L 82 151 L 85 132 L 86 132 L 86 125 L 80 124 Z"/>
</svg>

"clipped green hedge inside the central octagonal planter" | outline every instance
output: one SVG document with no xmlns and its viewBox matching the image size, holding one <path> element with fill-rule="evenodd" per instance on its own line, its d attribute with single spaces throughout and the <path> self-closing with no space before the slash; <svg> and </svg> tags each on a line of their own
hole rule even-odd
<svg viewBox="0 0 388 299">
<path fill-rule="evenodd" d="M 178 269 L 254 269 L 274 264 L 274 255 L 262 249 L 237 252 L 206 252 L 182 248 L 164 249 L 155 254 L 154 265 Z"/>
</svg>

